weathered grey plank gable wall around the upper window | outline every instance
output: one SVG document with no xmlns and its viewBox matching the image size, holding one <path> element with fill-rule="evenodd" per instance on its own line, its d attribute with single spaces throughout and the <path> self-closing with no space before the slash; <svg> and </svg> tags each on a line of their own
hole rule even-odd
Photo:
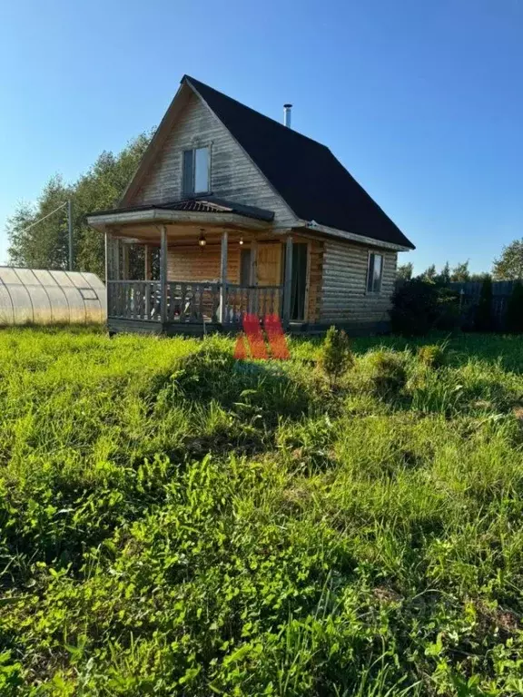
<svg viewBox="0 0 523 697">
<path fill-rule="evenodd" d="M 296 221 L 231 133 L 194 93 L 128 205 L 182 199 L 183 151 L 205 145 L 211 147 L 211 191 L 215 196 L 274 211 L 277 225 Z"/>
</svg>

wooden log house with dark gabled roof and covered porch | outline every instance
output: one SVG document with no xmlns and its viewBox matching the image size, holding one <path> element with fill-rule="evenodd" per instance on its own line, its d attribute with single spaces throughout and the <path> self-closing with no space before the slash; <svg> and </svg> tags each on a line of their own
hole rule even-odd
<svg viewBox="0 0 523 697">
<path fill-rule="evenodd" d="M 386 329 L 414 249 L 321 143 L 185 75 L 105 234 L 110 331 Z M 139 262 L 138 262 L 139 260 Z"/>
</svg>

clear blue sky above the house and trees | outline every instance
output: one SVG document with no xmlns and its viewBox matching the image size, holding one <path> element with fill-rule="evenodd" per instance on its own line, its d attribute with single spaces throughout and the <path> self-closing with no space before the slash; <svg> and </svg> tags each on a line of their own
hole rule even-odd
<svg viewBox="0 0 523 697">
<path fill-rule="evenodd" d="M 4 0 L 5 219 L 160 122 L 184 73 L 331 147 L 418 247 L 487 270 L 523 236 L 519 0 Z"/>
</svg>

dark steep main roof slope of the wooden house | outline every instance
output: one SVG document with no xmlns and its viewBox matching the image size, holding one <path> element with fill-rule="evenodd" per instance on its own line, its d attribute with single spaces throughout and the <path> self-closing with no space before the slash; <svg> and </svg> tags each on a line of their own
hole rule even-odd
<svg viewBox="0 0 523 697">
<path fill-rule="evenodd" d="M 202 96 L 298 218 L 414 249 L 325 145 L 189 75 L 183 82 Z"/>
</svg>

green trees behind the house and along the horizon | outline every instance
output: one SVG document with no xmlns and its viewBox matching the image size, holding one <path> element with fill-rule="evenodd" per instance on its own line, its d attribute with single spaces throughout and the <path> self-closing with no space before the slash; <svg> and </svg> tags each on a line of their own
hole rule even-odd
<svg viewBox="0 0 523 697">
<path fill-rule="evenodd" d="M 74 269 L 93 271 L 104 277 L 104 238 L 89 228 L 86 215 L 92 211 L 113 208 L 131 181 L 152 132 L 141 133 L 121 152 L 102 152 L 93 166 L 76 182 L 66 184 L 55 174 L 44 185 L 35 204 L 20 203 L 7 221 L 9 263 L 34 269 L 66 269 L 68 264 L 68 234 L 65 210 L 44 218 L 64 201 L 73 202 Z M 398 267 L 398 276 L 414 278 L 411 262 Z M 471 273 L 469 261 L 450 268 L 447 262 L 441 270 L 434 264 L 416 278 L 447 284 L 451 281 L 485 280 L 486 273 Z M 493 280 L 523 280 L 523 238 L 505 247 L 492 268 Z"/>
</svg>

